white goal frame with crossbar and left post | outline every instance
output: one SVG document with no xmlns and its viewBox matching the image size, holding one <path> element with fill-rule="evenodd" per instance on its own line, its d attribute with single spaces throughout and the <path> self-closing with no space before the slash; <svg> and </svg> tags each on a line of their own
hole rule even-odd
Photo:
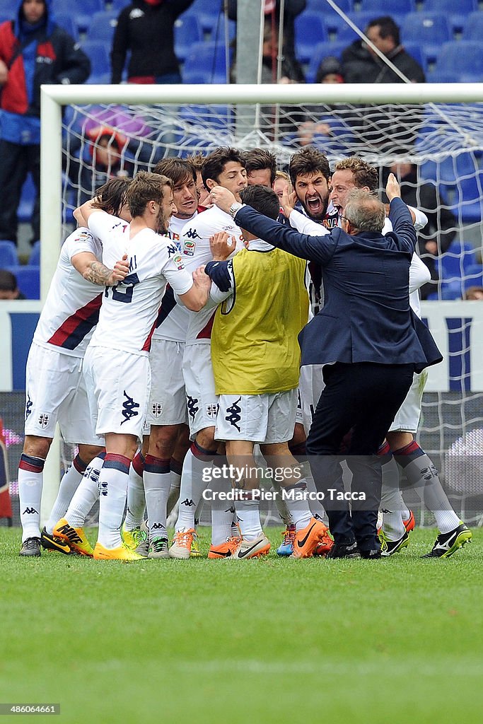
<svg viewBox="0 0 483 724">
<path fill-rule="evenodd" d="M 429 104 L 483 102 L 481 83 L 42 85 L 41 305 L 62 241 L 62 106 L 69 104 Z M 59 439 L 46 461 L 46 505 L 59 484 Z M 47 490 L 49 488 L 49 490 Z"/>
</svg>

